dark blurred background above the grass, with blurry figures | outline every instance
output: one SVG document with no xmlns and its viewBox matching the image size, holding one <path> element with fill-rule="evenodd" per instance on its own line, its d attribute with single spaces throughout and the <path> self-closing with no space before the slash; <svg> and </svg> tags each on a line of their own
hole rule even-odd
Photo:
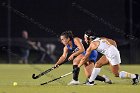
<svg viewBox="0 0 140 93">
<path fill-rule="evenodd" d="M 0 0 L 0 63 L 55 63 L 61 32 L 92 29 L 116 40 L 122 64 L 139 64 L 139 10 L 139 0 Z"/>
</svg>

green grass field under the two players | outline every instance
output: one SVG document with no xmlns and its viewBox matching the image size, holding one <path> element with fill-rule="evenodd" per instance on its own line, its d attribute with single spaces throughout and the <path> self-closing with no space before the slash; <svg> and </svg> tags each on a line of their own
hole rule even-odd
<svg viewBox="0 0 140 93">
<path fill-rule="evenodd" d="M 116 78 L 109 71 L 108 66 L 102 68 L 100 75 L 109 76 L 114 84 L 105 84 L 96 81 L 95 86 L 75 85 L 68 86 L 72 75 L 61 78 L 47 85 L 40 83 L 57 78 L 72 70 L 72 65 L 62 65 L 39 79 L 33 80 L 31 75 L 52 67 L 52 65 L 24 65 L 24 64 L 0 64 L 0 93 L 140 93 L 140 84 L 131 85 L 130 79 Z M 132 73 L 140 73 L 140 65 L 122 65 L 121 70 Z M 85 81 L 83 68 L 81 68 L 80 82 Z M 17 82 L 17 86 L 13 86 Z"/>
</svg>

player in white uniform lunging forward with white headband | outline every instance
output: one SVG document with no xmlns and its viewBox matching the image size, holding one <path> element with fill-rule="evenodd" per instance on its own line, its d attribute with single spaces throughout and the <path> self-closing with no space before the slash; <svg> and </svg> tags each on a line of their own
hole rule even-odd
<svg viewBox="0 0 140 93">
<path fill-rule="evenodd" d="M 119 72 L 119 66 L 121 63 L 120 53 L 117 49 L 116 42 L 108 38 L 98 38 L 93 35 L 91 30 L 87 31 L 84 35 L 85 42 L 89 44 L 89 47 L 86 50 L 85 56 L 82 58 L 78 67 L 81 67 L 86 59 L 89 57 L 92 50 L 97 50 L 102 53 L 103 56 L 95 63 L 92 74 L 89 78 L 87 85 L 94 85 L 94 80 L 96 76 L 100 73 L 101 67 L 106 64 L 110 64 L 111 71 L 116 77 L 120 78 L 131 78 L 133 85 L 139 82 L 139 75 L 128 73 L 126 71 Z"/>
</svg>

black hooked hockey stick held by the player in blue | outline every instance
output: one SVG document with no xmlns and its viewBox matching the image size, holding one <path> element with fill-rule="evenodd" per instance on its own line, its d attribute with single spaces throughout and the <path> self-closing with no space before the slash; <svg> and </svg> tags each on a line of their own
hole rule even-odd
<svg viewBox="0 0 140 93">
<path fill-rule="evenodd" d="M 66 63 L 66 62 L 68 62 L 68 61 L 63 62 L 63 63 L 59 64 L 58 66 L 60 66 L 60 65 L 62 65 L 62 64 L 64 64 L 64 63 Z M 55 68 L 57 68 L 57 66 L 53 66 L 53 67 L 51 67 L 51 68 L 45 70 L 44 72 L 41 72 L 41 73 L 38 74 L 38 75 L 32 74 L 32 78 L 33 78 L 33 79 L 38 79 L 38 78 L 40 78 L 41 76 L 43 76 L 43 75 L 45 75 L 45 74 L 51 72 L 51 71 L 54 70 Z"/>
</svg>

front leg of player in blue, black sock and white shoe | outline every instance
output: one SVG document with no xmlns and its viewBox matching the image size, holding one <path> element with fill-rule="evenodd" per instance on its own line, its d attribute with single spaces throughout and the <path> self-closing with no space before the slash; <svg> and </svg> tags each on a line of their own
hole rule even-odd
<svg viewBox="0 0 140 93">
<path fill-rule="evenodd" d="M 83 55 L 80 54 L 73 60 L 73 69 L 78 67 L 78 64 L 79 64 L 82 57 L 83 57 Z M 80 84 L 80 82 L 78 81 L 79 72 L 80 72 L 80 68 L 73 72 L 73 80 L 68 85 Z"/>
</svg>

